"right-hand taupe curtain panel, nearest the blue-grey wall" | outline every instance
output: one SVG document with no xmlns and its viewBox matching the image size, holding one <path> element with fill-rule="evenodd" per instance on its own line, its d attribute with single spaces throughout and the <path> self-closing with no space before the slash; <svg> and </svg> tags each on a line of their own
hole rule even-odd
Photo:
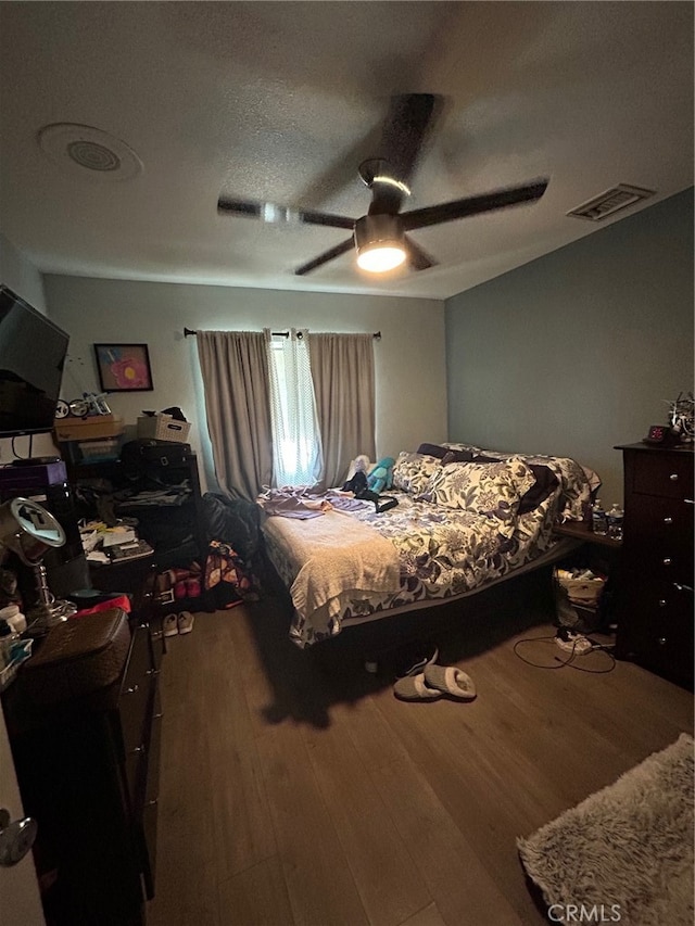
<svg viewBox="0 0 695 926">
<path fill-rule="evenodd" d="M 321 485 L 342 485 L 350 461 L 374 460 L 375 376 L 371 334 L 309 334 L 316 410 L 324 443 Z"/>
</svg>

